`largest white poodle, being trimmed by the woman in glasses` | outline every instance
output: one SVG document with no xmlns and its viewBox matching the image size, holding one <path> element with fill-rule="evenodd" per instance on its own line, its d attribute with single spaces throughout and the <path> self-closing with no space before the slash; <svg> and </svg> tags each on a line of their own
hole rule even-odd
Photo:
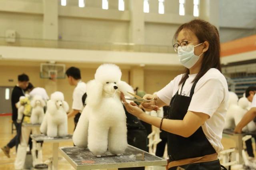
<svg viewBox="0 0 256 170">
<path fill-rule="evenodd" d="M 120 68 L 114 64 L 98 67 L 95 79 L 87 84 L 86 107 L 73 134 L 79 148 L 100 157 L 108 150 L 120 155 L 127 148 L 126 115 L 120 100 L 120 91 L 134 93 L 132 87 L 121 81 Z"/>
</svg>

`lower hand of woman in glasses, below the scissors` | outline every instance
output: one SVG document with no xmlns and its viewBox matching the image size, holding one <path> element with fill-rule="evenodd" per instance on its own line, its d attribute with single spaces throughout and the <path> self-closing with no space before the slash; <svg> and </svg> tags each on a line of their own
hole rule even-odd
<svg viewBox="0 0 256 170">
<path fill-rule="evenodd" d="M 138 118 L 140 118 L 141 115 L 145 114 L 144 111 L 142 111 L 142 109 L 140 109 L 136 103 L 134 103 L 134 102 L 131 102 L 130 104 L 127 103 L 125 98 L 124 98 L 124 93 L 121 93 L 121 98 L 122 98 L 122 101 L 124 103 L 124 106 L 125 106 L 126 110 L 130 114 L 132 114 L 132 115 L 134 115 Z"/>
</svg>

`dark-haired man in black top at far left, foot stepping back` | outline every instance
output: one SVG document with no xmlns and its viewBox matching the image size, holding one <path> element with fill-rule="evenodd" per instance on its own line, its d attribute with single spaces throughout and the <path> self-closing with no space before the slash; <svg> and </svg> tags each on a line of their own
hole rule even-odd
<svg viewBox="0 0 256 170">
<path fill-rule="evenodd" d="M 12 90 L 12 98 L 11 98 L 12 121 L 16 127 L 17 134 L 20 131 L 21 124 L 17 123 L 18 109 L 16 107 L 16 103 L 18 103 L 21 96 L 25 95 L 24 90 L 28 87 L 28 81 L 29 81 L 28 75 L 26 75 L 26 74 L 18 75 L 18 84 L 16 86 L 14 86 L 14 88 Z M 10 158 L 10 149 L 14 146 L 17 146 L 18 143 L 19 143 L 19 138 L 16 135 L 16 136 L 14 136 L 14 138 L 12 138 L 12 140 L 10 140 L 10 142 L 6 146 L 2 147 L 1 149 L 4 152 L 4 154 L 8 158 Z"/>
</svg>

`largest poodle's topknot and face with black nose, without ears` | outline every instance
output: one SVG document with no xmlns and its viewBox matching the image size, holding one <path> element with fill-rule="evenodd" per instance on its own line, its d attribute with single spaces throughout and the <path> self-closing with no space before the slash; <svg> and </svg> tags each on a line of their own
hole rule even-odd
<svg viewBox="0 0 256 170">
<path fill-rule="evenodd" d="M 117 65 L 102 64 L 96 70 L 95 80 L 102 83 L 103 91 L 107 94 L 114 94 L 121 81 L 122 72 Z"/>
</svg>

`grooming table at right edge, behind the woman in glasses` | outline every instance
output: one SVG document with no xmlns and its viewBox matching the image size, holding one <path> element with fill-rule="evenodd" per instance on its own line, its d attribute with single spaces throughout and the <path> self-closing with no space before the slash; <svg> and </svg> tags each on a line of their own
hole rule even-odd
<svg viewBox="0 0 256 170">
<path fill-rule="evenodd" d="M 238 164 L 243 164 L 244 160 L 242 158 L 242 150 L 243 150 L 243 140 L 242 138 L 246 135 L 255 135 L 256 133 L 254 132 L 246 132 L 246 133 L 234 133 L 234 129 L 224 129 L 223 134 L 226 134 L 230 136 L 235 142 L 236 142 L 236 150 L 238 152 Z"/>
</svg>

